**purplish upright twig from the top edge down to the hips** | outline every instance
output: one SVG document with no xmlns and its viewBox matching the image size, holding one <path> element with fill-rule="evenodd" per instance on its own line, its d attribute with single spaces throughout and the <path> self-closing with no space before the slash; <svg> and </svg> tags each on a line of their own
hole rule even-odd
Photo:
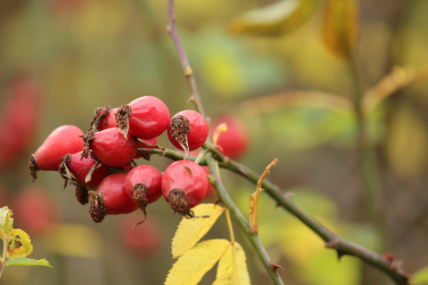
<svg viewBox="0 0 428 285">
<path fill-rule="evenodd" d="M 183 66 L 183 70 L 185 71 L 185 77 L 187 78 L 187 82 L 189 84 L 191 96 L 190 100 L 193 101 L 196 109 L 202 114 L 205 118 L 205 111 L 203 110 L 203 105 L 201 102 L 201 96 L 198 92 L 198 87 L 196 85 L 196 81 L 194 80 L 193 70 L 190 67 L 189 61 L 187 60 L 187 56 L 185 55 L 185 49 L 183 44 L 181 44 L 180 37 L 178 37 L 177 28 L 176 28 L 176 17 L 174 14 L 174 0 L 168 0 L 168 20 L 169 26 L 167 27 L 169 36 L 172 37 L 172 41 L 174 45 L 176 45 L 178 57 L 180 58 L 181 65 Z"/>
</svg>

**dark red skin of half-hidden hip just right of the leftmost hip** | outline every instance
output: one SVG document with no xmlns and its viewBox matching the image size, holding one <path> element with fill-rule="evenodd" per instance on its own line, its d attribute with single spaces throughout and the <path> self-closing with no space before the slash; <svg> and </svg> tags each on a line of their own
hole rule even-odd
<svg viewBox="0 0 428 285">
<path fill-rule="evenodd" d="M 86 186 L 94 187 L 103 181 L 103 179 L 108 175 L 109 167 L 105 164 L 102 164 L 101 167 L 98 167 L 92 173 L 91 181 L 85 183 L 85 178 L 88 171 L 96 163 L 94 159 L 83 158 L 80 160 L 81 151 L 73 153 L 70 155 L 70 160 L 67 163 L 71 174 L 78 180 L 79 183 L 85 184 Z"/>
</svg>

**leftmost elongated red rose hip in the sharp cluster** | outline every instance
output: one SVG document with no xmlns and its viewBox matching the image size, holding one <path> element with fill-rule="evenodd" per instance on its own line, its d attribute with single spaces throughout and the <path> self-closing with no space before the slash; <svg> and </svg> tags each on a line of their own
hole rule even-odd
<svg viewBox="0 0 428 285">
<path fill-rule="evenodd" d="M 82 151 L 81 136 L 83 132 L 77 126 L 60 126 L 53 130 L 29 158 L 28 166 L 33 181 L 37 178 L 37 170 L 58 170 L 64 155 Z"/>
</svg>

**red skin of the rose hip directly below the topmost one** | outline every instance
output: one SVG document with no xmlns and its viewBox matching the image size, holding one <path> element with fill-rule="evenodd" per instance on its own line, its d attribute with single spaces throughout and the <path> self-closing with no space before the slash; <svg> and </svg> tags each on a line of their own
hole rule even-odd
<svg viewBox="0 0 428 285">
<path fill-rule="evenodd" d="M 120 134 L 119 127 L 112 127 L 94 134 L 91 149 L 106 165 L 123 167 L 136 157 L 136 139 L 128 134 L 128 142 L 123 134 Z"/>
</svg>

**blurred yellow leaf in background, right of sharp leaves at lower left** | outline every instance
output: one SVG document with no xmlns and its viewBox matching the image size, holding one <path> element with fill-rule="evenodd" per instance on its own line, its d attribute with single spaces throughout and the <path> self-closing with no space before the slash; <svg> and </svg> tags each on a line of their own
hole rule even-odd
<svg viewBox="0 0 428 285">
<path fill-rule="evenodd" d="M 63 256 L 90 258 L 102 252 L 103 237 L 84 224 L 57 224 L 49 238 L 52 251 Z"/>
</svg>

